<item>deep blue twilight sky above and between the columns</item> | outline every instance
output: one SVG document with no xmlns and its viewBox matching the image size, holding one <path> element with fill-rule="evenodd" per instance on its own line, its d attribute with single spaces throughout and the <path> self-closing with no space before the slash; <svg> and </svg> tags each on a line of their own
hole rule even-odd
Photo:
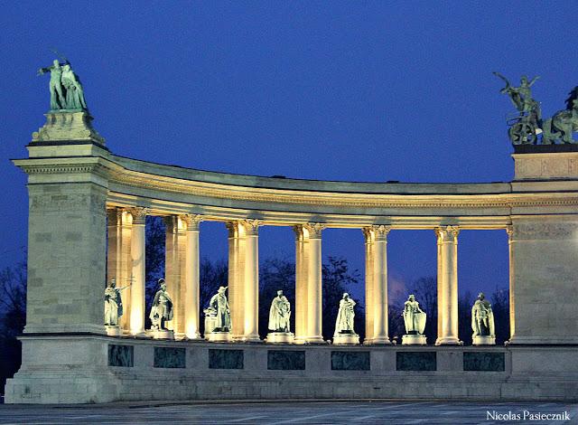
<svg viewBox="0 0 578 425">
<path fill-rule="evenodd" d="M 49 109 L 35 71 L 64 52 L 112 152 L 231 173 L 350 181 L 494 182 L 513 176 L 501 81 L 541 75 L 544 115 L 578 84 L 564 2 L 5 2 L 0 14 L 0 267 L 26 244 L 25 176 L 8 158 Z M 226 256 L 224 226 L 201 249 Z M 390 288 L 435 274 L 433 231 L 393 231 Z M 260 255 L 292 258 L 289 229 Z M 363 268 L 360 231 L 324 255 Z M 505 231 L 463 231 L 461 290 L 508 285 Z"/>
</svg>

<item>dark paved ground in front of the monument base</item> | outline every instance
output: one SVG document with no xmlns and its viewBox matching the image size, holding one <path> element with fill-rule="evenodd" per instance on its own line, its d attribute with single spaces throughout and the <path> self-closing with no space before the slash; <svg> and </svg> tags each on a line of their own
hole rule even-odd
<svg viewBox="0 0 578 425">
<path fill-rule="evenodd" d="M 554 413 L 570 420 L 512 420 L 516 414 Z M 511 414 L 509 413 L 511 412 Z M 496 419 L 492 420 L 490 414 Z M 501 416 L 498 416 L 501 415 Z M 509 415 L 509 416 L 508 416 Z M 510 418 L 508 420 L 508 418 Z M 486 402 L 254 402 L 82 406 L 0 405 L 1 424 L 490 424 L 576 423 L 578 404 Z"/>
</svg>

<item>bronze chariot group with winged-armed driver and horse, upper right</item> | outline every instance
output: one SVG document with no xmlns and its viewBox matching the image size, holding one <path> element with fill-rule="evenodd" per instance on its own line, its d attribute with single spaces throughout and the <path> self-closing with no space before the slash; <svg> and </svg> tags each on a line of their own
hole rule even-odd
<svg viewBox="0 0 578 425">
<path fill-rule="evenodd" d="M 551 118 L 542 119 L 540 103 L 532 97 L 532 85 L 538 80 L 520 79 L 519 87 L 512 86 L 499 72 L 494 75 L 506 82 L 500 93 L 507 94 L 517 109 L 516 115 L 508 116 L 508 137 L 514 145 L 552 145 L 555 143 L 578 143 L 573 132 L 578 131 L 578 86 L 566 99 L 566 109 L 557 111 Z M 539 136 L 541 135 L 541 140 Z"/>
</svg>

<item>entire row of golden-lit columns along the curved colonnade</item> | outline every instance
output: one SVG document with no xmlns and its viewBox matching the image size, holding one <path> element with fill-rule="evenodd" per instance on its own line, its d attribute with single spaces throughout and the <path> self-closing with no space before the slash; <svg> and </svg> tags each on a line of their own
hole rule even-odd
<svg viewBox="0 0 578 425">
<path fill-rule="evenodd" d="M 123 293 L 120 326 L 144 335 L 146 208 L 113 208 L 108 217 L 108 279 Z M 172 296 L 175 337 L 200 339 L 200 215 L 169 215 L 166 224 L 165 279 Z M 228 229 L 228 302 L 234 341 L 258 342 L 258 220 L 226 222 Z M 317 222 L 294 225 L 295 343 L 322 343 L 322 231 Z M 390 227 L 362 229 L 366 249 L 366 339 L 364 344 L 391 344 L 387 323 L 387 235 Z M 436 345 L 458 345 L 457 246 L 459 228 L 443 226 L 437 236 L 438 338 Z M 509 234 L 509 233 L 508 233 Z M 128 302 L 126 302 L 128 301 Z M 267 301 L 267 300 L 266 300 Z"/>
</svg>

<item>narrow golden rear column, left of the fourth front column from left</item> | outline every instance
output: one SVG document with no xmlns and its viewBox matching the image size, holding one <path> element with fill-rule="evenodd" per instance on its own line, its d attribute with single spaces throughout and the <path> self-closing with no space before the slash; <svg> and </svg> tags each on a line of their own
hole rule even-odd
<svg viewBox="0 0 578 425">
<path fill-rule="evenodd" d="M 295 232 L 295 343 L 303 344 L 307 339 L 307 271 L 309 239 L 305 237 L 303 225 L 294 226 Z"/>
</svg>

